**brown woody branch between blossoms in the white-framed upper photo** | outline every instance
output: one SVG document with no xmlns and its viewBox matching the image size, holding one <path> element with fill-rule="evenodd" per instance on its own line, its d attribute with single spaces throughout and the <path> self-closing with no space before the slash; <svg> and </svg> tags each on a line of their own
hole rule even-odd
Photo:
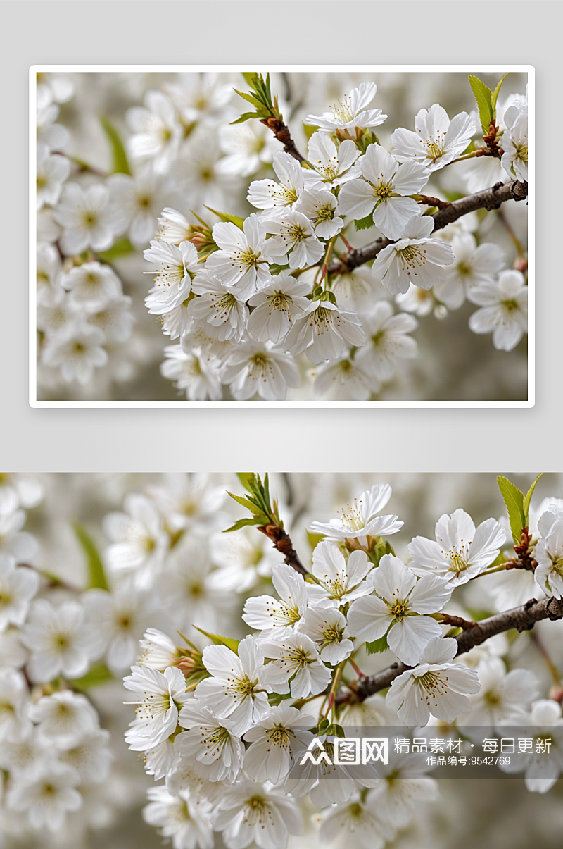
<svg viewBox="0 0 563 849">
<path fill-rule="evenodd" d="M 465 198 L 454 200 L 443 206 L 443 209 L 435 212 L 432 216 L 434 219 L 433 232 L 447 227 L 448 224 L 452 224 L 469 212 L 476 212 L 477 210 L 490 212 L 499 209 L 505 200 L 526 200 L 526 198 L 527 183 L 520 183 L 518 180 L 511 183 L 495 183 L 491 188 L 485 188 L 482 192 L 476 194 L 468 194 Z M 388 245 L 393 245 L 392 239 L 381 238 L 363 248 L 348 250 L 348 253 L 332 261 L 328 267 L 328 273 L 342 274 L 353 271 L 354 268 L 375 259 L 380 250 L 387 248 Z"/>
</svg>

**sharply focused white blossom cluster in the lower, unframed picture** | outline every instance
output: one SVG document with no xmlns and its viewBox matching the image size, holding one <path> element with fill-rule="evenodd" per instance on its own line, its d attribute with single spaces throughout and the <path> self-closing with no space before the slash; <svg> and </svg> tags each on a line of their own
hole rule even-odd
<svg viewBox="0 0 563 849">
<path fill-rule="evenodd" d="M 242 622 L 231 633 L 242 626 L 246 636 L 218 634 L 212 617 L 207 629 L 198 619 L 203 644 L 185 630 L 175 639 L 170 627 L 144 633 L 124 680 L 137 705 L 125 739 L 144 753 L 148 773 L 164 778 L 148 791 L 144 817 L 175 849 L 211 847 L 214 832 L 228 849 L 253 841 L 283 849 L 308 828 L 311 805 L 324 842 L 351 833 L 366 849 L 393 841 L 415 807 L 438 796 L 425 758 L 405 761 L 399 773 L 396 764 L 367 764 L 336 774 L 318 761 L 295 772 L 298 756 L 317 744 L 332 751 L 346 727 L 420 735 L 440 722 L 471 739 L 475 727 L 502 734 L 523 723 L 552 746 L 549 763 L 519 762 L 527 788 L 544 793 L 559 778 L 561 689 L 541 698 L 538 677 L 503 659 L 503 635 L 456 657 L 449 624 L 464 621 L 463 593 L 477 579 L 487 587 L 501 577 L 508 596 L 515 576 L 524 575 L 527 599 L 560 599 L 563 500 L 544 499 L 531 514 L 539 539 L 529 570 L 510 561 L 504 518 L 476 526 L 464 509 L 443 514 L 435 537 L 414 537 L 399 558 L 391 543 L 404 523 L 382 514 L 391 498 L 390 486 L 371 486 L 336 518 L 310 520 L 310 567 L 278 555 L 265 573 L 270 591 L 244 593 Z M 450 604 L 453 620 L 444 610 Z M 354 678 L 365 678 L 359 664 L 383 651 L 402 664 L 387 693 L 354 696 Z"/>
</svg>

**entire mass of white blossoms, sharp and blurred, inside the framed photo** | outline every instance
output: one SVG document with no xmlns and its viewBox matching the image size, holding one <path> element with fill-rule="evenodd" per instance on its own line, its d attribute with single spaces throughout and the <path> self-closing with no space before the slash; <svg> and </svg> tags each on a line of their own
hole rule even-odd
<svg viewBox="0 0 563 849">
<path fill-rule="evenodd" d="M 281 107 L 307 131 L 302 156 L 264 121 L 237 123 L 237 75 L 181 74 L 126 111 L 123 142 L 104 124 L 119 158 L 108 173 L 70 152 L 79 138 L 56 123 L 57 75 L 43 76 L 37 327 L 47 394 L 61 382 L 70 395 L 102 391 L 96 380 L 131 380 L 154 356 L 156 343 L 133 327 L 145 318 L 138 290 L 124 295 L 114 270 L 128 252 L 143 251 L 153 276 L 146 309 L 170 340 L 161 374 L 190 401 L 374 400 L 419 357 L 419 319 L 465 301 L 479 307 L 469 328 L 492 334 L 496 349 L 514 350 L 527 332 L 521 241 L 509 256 L 489 240 L 488 217 L 443 229 L 432 217 L 437 194 L 446 205 L 527 181 L 526 94 L 499 103 L 494 143 L 479 148 L 477 115 L 450 120 L 439 104 L 417 111 L 414 131 L 391 130 L 376 82 L 320 115 L 306 110 L 318 93 L 294 107 L 289 91 Z M 348 239 L 366 237 L 382 249 L 356 267 Z"/>
</svg>

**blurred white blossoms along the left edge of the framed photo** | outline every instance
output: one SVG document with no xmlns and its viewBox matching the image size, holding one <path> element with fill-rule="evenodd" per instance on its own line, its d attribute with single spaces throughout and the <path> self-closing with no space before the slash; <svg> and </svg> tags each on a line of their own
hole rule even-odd
<svg viewBox="0 0 563 849">
<path fill-rule="evenodd" d="M 94 373 L 108 377 L 110 360 L 114 379 L 127 377 L 133 315 L 131 297 L 102 259 L 128 224 L 125 204 L 112 203 L 109 186 L 77 182 L 73 165 L 81 166 L 64 155 L 70 134 L 56 121 L 73 93 L 70 79 L 57 75 L 37 87 L 36 302 L 42 384 L 80 393 Z"/>
</svg>

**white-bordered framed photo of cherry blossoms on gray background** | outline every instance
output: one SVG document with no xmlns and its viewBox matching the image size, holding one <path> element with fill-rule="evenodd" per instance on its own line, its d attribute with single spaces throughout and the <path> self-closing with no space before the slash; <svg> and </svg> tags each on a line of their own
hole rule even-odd
<svg viewBox="0 0 563 849">
<path fill-rule="evenodd" d="M 533 80 L 33 66 L 31 406 L 532 407 Z"/>
</svg>

